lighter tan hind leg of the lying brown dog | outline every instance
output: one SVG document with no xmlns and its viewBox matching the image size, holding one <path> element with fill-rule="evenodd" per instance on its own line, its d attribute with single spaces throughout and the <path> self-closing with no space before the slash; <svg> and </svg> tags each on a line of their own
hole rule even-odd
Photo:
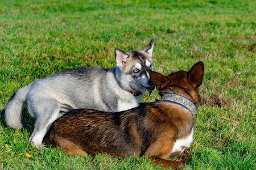
<svg viewBox="0 0 256 170">
<path fill-rule="evenodd" d="M 81 154 L 88 155 L 85 151 L 81 150 L 75 143 L 68 141 L 67 139 L 60 140 L 57 145 L 62 148 L 65 154 Z"/>
</svg>

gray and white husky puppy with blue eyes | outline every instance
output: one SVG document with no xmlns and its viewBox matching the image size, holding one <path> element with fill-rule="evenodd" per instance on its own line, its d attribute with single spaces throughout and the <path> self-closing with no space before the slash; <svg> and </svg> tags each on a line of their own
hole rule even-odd
<svg viewBox="0 0 256 170">
<path fill-rule="evenodd" d="M 143 50 L 125 53 L 115 49 L 117 66 L 110 69 L 78 67 L 20 88 L 5 109 L 7 126 L 23 127 L 21 114 L 27 101 L 28 113 L 36 119 L 29 141 L 39 148 L 52 122 L 72 109 L 119 112 L 138 107 L 144 92 L 154 90 L 148 73 L 153 48 L 154 39 Z"/>
</svg>

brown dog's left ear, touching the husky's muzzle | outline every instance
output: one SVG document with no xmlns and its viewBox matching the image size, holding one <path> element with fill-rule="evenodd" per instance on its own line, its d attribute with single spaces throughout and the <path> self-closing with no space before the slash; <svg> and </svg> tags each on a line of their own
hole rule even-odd
<svg viewBox="0 0 256 170">
<path fill-rule="evenodd" d="M 156 86 L 157 90 L 159 90 L 160 88 L 162 88 L 164 84 L 169 82 L 167 76 L 164 76 L 160 73 L 157 73 L 151 70 L 149 73 L 150 73 L 150 81 Z"/>
</svg>

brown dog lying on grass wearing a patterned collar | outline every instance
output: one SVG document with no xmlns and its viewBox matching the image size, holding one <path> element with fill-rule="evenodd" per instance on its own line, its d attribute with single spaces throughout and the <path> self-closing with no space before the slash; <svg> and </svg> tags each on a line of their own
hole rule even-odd
<svg viewBox="0 0 256 170">
<path fill-rule="evenodd" d="M 117 113 L 75 109 L 53 123 L 50 142 L 67 154 L 144 155 L 164 167 L 184 167 L 170 159 L 184 157 L 181 152 L 193 141 L 193 115 L 203 76 L 203 62 L 168 76 L 151 71 L 151 82 L 162 101 Z"/>
</svg>

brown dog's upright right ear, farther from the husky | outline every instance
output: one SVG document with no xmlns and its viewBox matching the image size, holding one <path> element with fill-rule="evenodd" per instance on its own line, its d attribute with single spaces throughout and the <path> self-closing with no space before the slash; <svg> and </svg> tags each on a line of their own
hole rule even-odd
<svg viewBox="0 0 256 170">
<path fill-rule="evenodd" d="M 188 80 L 195 83 L 196 87 L 201 86 L 204 77 L 204 63 L 199 61 L 188 71 Z M 195 87 L 195 88 L 196 88 Z"/>
</svg>

